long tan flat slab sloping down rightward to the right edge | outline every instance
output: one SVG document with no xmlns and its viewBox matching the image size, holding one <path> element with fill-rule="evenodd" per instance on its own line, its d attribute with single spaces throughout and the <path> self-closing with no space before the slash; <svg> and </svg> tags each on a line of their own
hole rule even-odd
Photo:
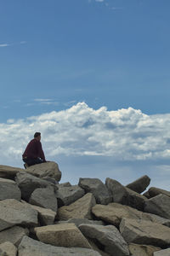
<svg viewBox="0 0 170 256">
<path fill-rule="evenodd" d="M 161 218 L 154 214 L 140 212 L 133 207 L 124 206 L 118 203 L 110 203 L 107 206 L 95 205 L 92 208 L 92 212 L 97 218 L 104 220 L 108 224 L 113 224 L 119 227 L 122 218 L 144 219 L 156 222 L 159 224 L 170 225 L 170 221 L 165 218 Z"/>
</svg>

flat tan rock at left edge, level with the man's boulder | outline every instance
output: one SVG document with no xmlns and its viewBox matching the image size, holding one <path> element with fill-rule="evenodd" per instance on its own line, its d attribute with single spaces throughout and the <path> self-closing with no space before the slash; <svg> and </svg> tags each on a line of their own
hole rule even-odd
<svg viewBox="0 0 170 256">
<path fill-rule="evenodd" d="M 25 169 L 11 166 L 0 166 L 0 177 L 14 179 L 18 172 L 25 172 Z"/>
</svg>

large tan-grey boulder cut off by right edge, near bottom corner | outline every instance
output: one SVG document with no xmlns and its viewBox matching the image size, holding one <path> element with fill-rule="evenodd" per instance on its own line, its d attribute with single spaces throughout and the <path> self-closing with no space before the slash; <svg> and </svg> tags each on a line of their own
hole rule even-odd
<svg viewBox="0 0 170 256">
<path fill-rule="evenodd" d="M 127 243 L 138 243 L 156 247 L 170 246 L 170 229 L 161 224 L 132 218 L 122 218 L 121 234 Z"/>
</svg>

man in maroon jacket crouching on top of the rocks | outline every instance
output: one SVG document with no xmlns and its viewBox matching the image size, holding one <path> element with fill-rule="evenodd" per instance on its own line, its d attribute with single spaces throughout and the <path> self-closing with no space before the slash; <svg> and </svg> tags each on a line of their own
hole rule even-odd
<svg viewBox="0 0 170 256">
<path fill-rule="evenodd" d="M 22 155 L 22 160 L 25 162 L 25 168 L 46 162 L 45 155 L 42 150 L 42 143 L 40 141 L 41 133 L 36 132 L 34 134 L 34 139 L 28 143 L 26 150 Z"/>
</svg>

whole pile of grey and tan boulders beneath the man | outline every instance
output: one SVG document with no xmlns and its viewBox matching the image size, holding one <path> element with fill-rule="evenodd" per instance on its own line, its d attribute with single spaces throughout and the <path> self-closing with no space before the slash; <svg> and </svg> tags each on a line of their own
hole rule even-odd
<svg viewBox="0 0 170 256">
<path fill-rule="evenodd" d="M 0 255 L 169 256 L 170 192 L 143 176 L 59 183 L 54 162 L 0 166 Z"/>
</svg>

